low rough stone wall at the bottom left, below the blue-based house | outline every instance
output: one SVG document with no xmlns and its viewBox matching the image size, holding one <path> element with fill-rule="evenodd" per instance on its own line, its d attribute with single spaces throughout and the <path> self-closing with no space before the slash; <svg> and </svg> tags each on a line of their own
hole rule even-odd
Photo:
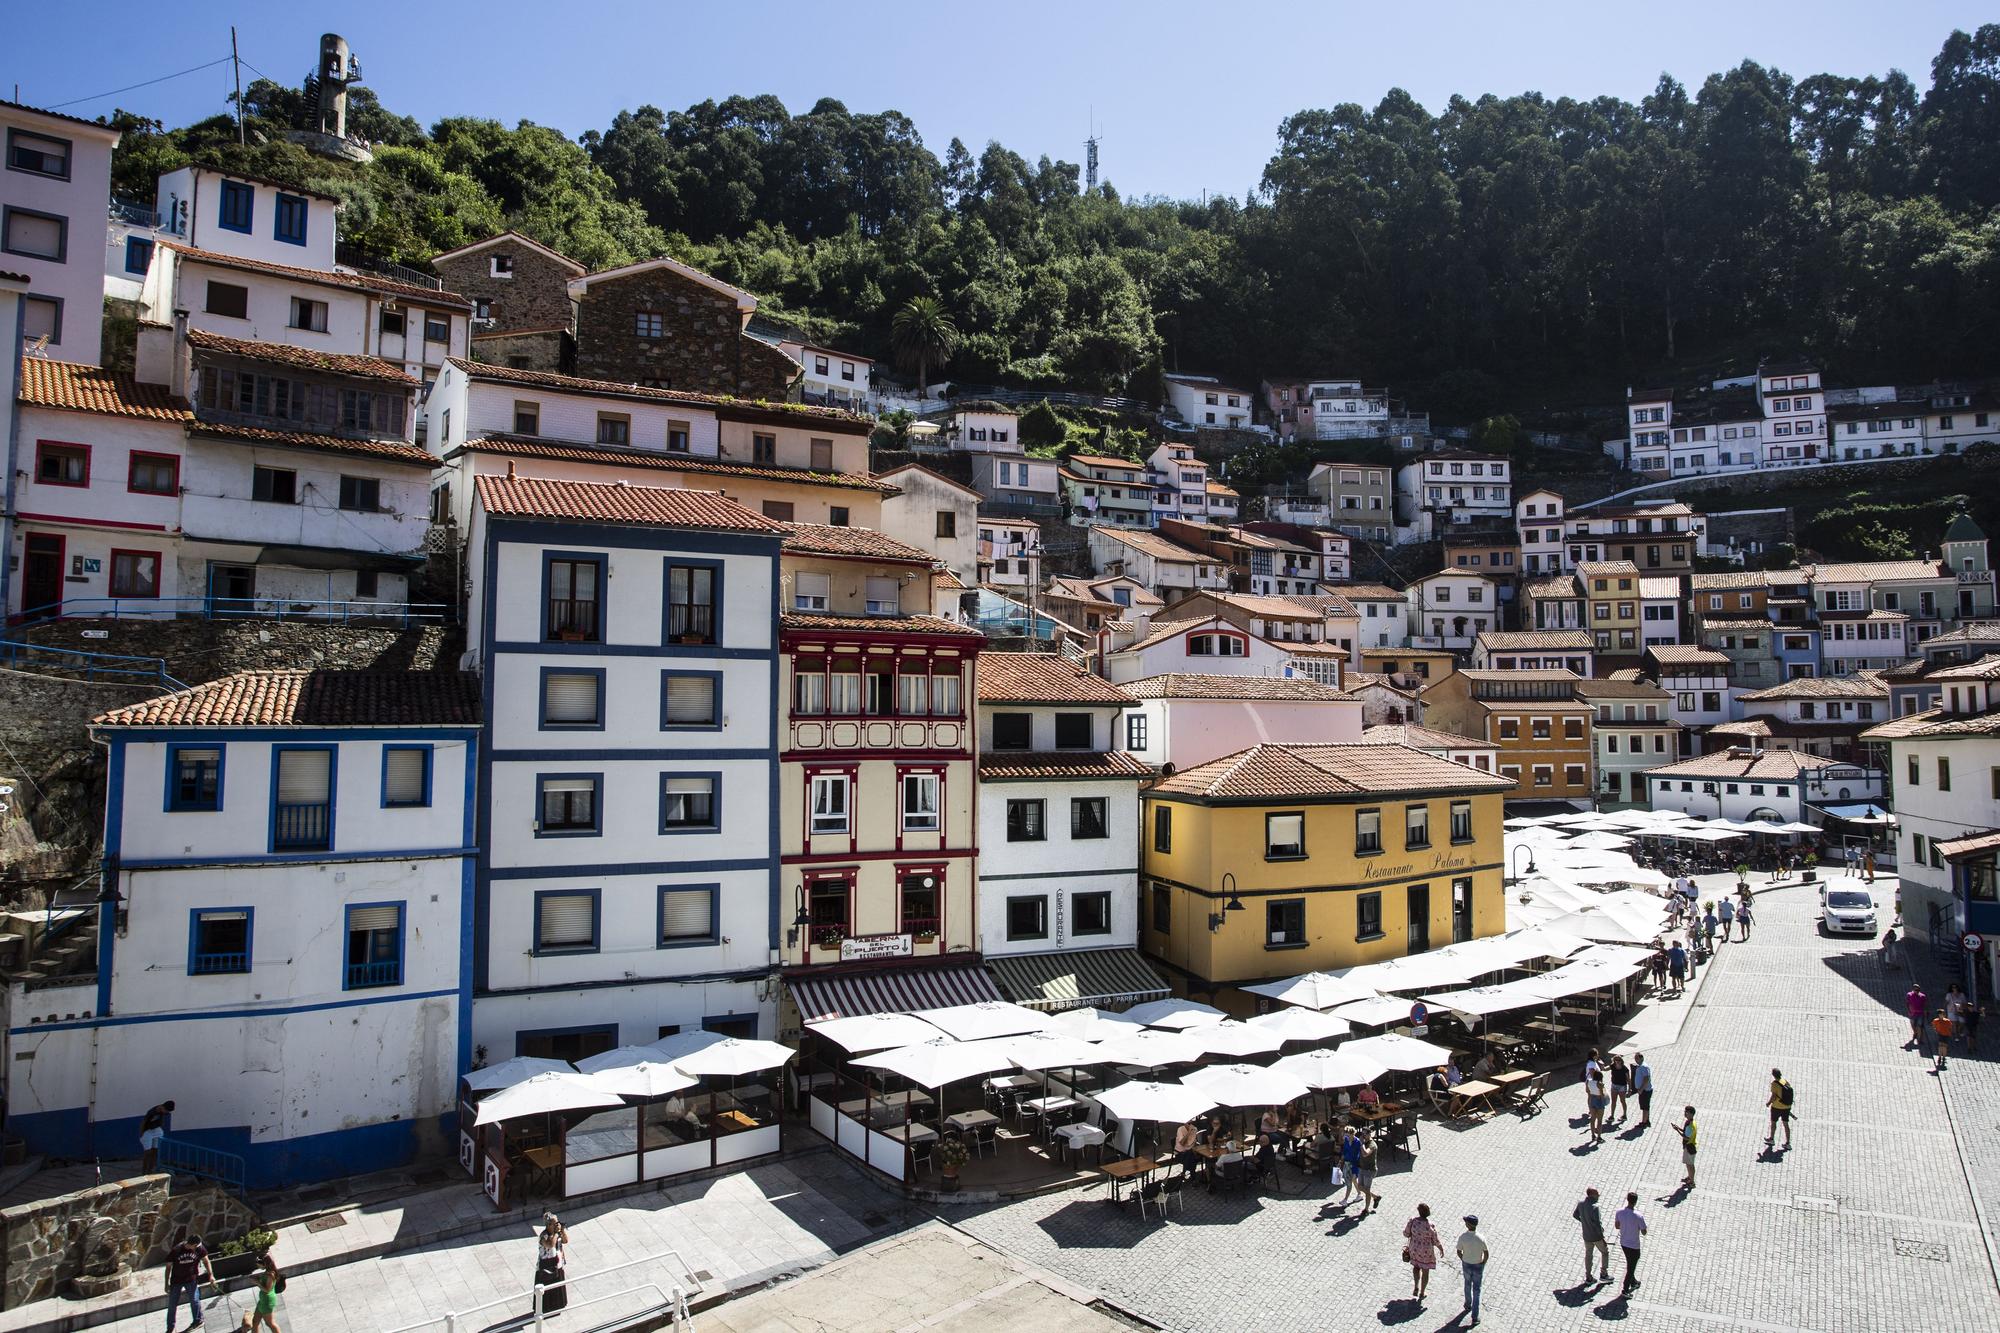
<svg viewBox="0 0 2000 1333">
<path fill-rule="evenodd" d="M 170 1193 L 168 1175 L 138 1175 L 0 1209 L 0 1309 L 60 1295 L 78 1277 L 114 1289 L 116 1273 L 154 1283 L 174 1235 L 204 1237 L 210 1255 L 258 1225 L 248 1205 L 214 1187 Z"/>
</svg>

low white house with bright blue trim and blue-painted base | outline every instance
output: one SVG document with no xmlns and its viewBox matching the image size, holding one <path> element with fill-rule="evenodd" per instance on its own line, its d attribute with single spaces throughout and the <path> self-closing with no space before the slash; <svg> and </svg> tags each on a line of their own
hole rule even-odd
<svg viewBox="0 0 2000 1333">
<path fill-rule="evenodd" d="M 246 1185 L 450 1153 L 470 1067 L 478 683 L 252 671 L 116 709 L 96 969 L 8 987 L 8 1133 L 130 1157 L 146 1111 Z"/>
</svg>

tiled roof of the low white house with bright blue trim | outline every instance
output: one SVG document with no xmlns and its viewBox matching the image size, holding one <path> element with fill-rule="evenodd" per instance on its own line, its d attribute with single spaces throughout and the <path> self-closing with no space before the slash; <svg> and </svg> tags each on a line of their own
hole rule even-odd
<svg viewBox="0 0 2000 1333">
<path fill-rule="evenodd" d="M 92 719 L 98 727 L 478 727 L 464 671 L 244 671 Z"/>
</svg>

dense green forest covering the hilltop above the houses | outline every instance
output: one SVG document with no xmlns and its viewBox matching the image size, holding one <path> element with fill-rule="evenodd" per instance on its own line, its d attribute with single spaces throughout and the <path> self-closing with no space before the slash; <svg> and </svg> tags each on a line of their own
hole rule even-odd
<svg viewBox="0 0 2000 1333">
<path fill-rule="evenodd" d="M 1952 32 L 1928 88 L 1744 62 L 1690 92 L 1302 110 L 1242 200 L 1086 192 L 1002 144 L 940 156 L 898 112 L 772 96 L 620 112 L 570 140 L 428 130 L 368 90 L 374 162 L 286 142 L 314 90 L 258 80 L 166 130 L 118 112 L 120 192 L 186 160 L 346 200 L 402 260 L 514 226 L 592 266 L 676 254 L 808 334 L 888 354 L 932 296 L 960 380 L 1154 396 L 1166 370 L 1362 374 L 1464 420 L 1614 406 L 1620 386 L 1802 350 L 1832 382 L 1994 370 L 2000 24 Z"/>
</svg>

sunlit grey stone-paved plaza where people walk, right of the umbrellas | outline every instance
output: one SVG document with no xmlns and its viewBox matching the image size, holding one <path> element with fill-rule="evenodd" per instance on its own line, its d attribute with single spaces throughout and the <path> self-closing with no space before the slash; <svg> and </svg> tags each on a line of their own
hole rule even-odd
<svg viewBox="0 0 2000 1333">
<path fill-rule="evenodd" d="M 1398 1255 L 1418 1201 L 1446 1241 L 1462 1213 L 1480 1215 L 1492 1245 L 1482 1327 L 2000 1329 L 1974 1203 L 1974 1185 L 2000 1201 L 1986 1185 L 2000 1177 L 1990 1135 L 2000 1069 L 1952 1061 L 1954 1137 L 1940 1079 L 1902 1049 L 1908 973 L 1884 973 L 1872 941 L 1818 935 L 1812 887 L 1758 889 L 1752 939 L 1720 949 L 1678 1041 L 1646 1051 L 1660 1089 L 1652 1131 L 1628 1123 L 1586 1147 L 1582 1089 L 1564 1077 L 1550 1109 L 1526 1121 L 1508 1113 L 1454 1129 L 1426 1119 L 1414 1167 L 1384 1163 L 1384 1211 L 1368 1219 L 1328 1207 L 1338 1191 L 1290 1169 L 1278 1197 L 1196 1191 L 1166 1223 L 1114 1211 L 1100 1189 L 944 1213 L 1168 1329 L 1452 1327 L 1460 1283 L 1450 1263 L 1422 1309 L 1408 1299 Z M 1764 1153 L 1772 1065 L 1798 1089 L 1790 1153 Z M 1676 1191 L 1668 1129 L 1684 1103 L 1702 1127 L 1692 1193 Z M 1602 1191 L 1606 1221 L 1626 1189 L 1640 1193 L 1652 1231 L 1630 1301 L 1616 1299 L 1616 1279 L 1578 1283 L 1570 1209 L 1586 1185 Z"/>
</svg>

